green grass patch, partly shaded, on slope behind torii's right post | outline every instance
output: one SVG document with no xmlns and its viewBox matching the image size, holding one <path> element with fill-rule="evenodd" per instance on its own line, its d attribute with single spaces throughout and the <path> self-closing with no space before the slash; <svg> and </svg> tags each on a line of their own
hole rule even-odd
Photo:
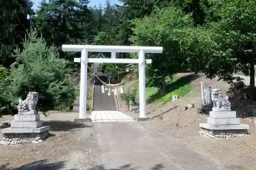
<svg viewBox="0 0 256 170">
<path fill-rule="evenodd" d="M 190 82 L 197 79 L 197 75 L 187 75 L 183 77 L 174 77 L 173 80 L 166 78 L 166 94 L 161 96 L 160 91 L 156 87 L 146 87 L 146 102 L 147 104 L 153 102 L 162 102 L 163 104 L 172 101 L 173 95 L 178 95 L 182 97 L 186 95 L 191 90 Z M 135 87 L 137 88 L 137 98 L 139 101 L 139 84 L 135 82 Z"/>
</svg>

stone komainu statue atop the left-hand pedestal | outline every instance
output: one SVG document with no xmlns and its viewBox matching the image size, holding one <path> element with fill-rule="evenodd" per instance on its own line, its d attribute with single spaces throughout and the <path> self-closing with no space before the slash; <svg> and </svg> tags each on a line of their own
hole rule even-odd
<svg viewBox="0 0 256 170">
<path fill-rule="evenodd" d="M 23 101 L 22 99 L 18 100 L 18 113 L 22 112 L 34 112 L 36 113 L 36 104 L 38 101 L 37 92 L 29 92 L 27 98 Z"/>
</svg>

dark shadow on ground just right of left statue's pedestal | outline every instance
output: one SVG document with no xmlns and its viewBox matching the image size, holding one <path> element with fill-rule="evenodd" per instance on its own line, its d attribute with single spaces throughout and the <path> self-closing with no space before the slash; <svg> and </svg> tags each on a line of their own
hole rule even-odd
<svg viewBox="0 0 256 170">
<path fill-rule="evenodd" d="M 61 121 L 61 120 L 50 120 L 44 121 L 44 126 L 50 126 L 50 131 L 71 131 L 77 130 L 79 128 L 90 128 L 91 125 L 79 123 L 79 122 L 71 122 L 71 121 Z"/>
</svg>

